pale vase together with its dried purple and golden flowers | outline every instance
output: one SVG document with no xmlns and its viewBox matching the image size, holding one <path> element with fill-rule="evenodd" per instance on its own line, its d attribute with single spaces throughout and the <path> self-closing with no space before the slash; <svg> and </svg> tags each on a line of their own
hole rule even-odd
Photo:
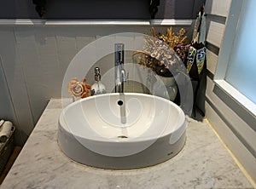
<svg viewBox="0 0 256 189">
<path fill-rule="evenodd" d="M 160 83 L 154 85 L 154 94 L 174 100 L 177 94 L 177 84 L 173 74 L 179 66 L 184 66 L 190 44 L 186 43 L 186 31 L 182 28 L 177 33 L 167 28 L 166 34 L 151 29 L 152 35 L 147 35 L 144 39 L 144 47 L 137 50 L 133 55 L 137 55 L 137 63 L 139 65 L 151 69 L 156 77 L 160 78 L 164 84 L 167 93 L 162 92 Z M 157 79 L 154 81 L 157 81 Z"/>
</svg>

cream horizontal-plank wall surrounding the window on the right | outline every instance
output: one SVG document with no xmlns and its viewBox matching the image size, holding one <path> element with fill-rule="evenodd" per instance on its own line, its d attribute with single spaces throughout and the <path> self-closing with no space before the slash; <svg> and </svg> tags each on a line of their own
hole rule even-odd
<svg viewBox="0 0 256 189">
<path fill-rule="evenodd" d="M 243 109 L 213 81 L 222 48 L 229 1 L 207 0 L 207 94 L 206 116 L 247 173 L 256 180 L 256 117 Z"/>
</svg>

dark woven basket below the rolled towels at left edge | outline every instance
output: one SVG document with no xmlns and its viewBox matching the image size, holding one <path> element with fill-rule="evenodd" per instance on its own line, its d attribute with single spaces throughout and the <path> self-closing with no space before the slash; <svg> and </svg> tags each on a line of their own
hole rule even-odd
<svg viewBox="0 0 256 189">
<path fill-rule="evenodd" d="M 10 137 L 5 142 L 0 142 L 0 174 L 3 172 L 10 155 L 14 150 L 14 133 L 15 127 L 13 126 Z"/>
</svg>

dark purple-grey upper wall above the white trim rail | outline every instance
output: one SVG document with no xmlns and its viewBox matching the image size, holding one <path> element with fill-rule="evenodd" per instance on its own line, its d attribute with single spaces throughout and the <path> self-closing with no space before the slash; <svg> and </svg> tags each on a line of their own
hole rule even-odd
<svg viewBox="0 0 256 189">
<path fill-rule="evenodd" d="M 195 19 L 205 0 L 160 0 L 156 19 Z M 150 19 L 150 0 L 48 0 L 45 19 Z M 0 0 L 2 19 L 38 19 L 32 0 Z"/>
</svg>

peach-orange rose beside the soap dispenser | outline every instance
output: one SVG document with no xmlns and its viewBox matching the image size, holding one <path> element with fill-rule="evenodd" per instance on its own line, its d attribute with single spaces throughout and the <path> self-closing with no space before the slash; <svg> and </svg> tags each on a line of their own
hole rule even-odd
<svg viewBox="0 0 256 189">
<path fill-rule="evenodd" d="M 85 98 L 90 95 L 90 84 L 86 83 L 85 78 L 82 82 L 79 82 L 78 78 L 74 77 L 67 84 L 67 91 L 73 95 L 73 97 Z"/>
</svg>

